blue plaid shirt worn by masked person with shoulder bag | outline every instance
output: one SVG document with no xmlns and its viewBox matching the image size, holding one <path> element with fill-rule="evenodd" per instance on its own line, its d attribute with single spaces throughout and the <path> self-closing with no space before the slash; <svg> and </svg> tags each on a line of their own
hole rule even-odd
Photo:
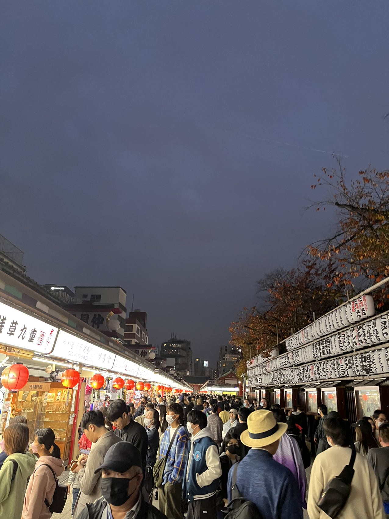
<svg viewBox="0 0 389 519">
<path fill-rule="evenodd" d="M 159 458 L 165 456 L 168 452 L 170 444 L 170 429 L 165 430 L 160 448 Z M 178 426 L 178 431 L 174 439 L 172 448 L 166 460 L 165 470 L 163 472 L 163 485 L 166 483 L 182 483 L 184 479 L 184 471 L 186 460 L 189 453 L 189 434 L 184 426 Z"/>
</svg>

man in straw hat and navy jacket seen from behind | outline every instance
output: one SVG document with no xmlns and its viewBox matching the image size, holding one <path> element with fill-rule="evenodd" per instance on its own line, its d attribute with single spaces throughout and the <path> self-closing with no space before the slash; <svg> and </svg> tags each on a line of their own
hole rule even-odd
<svg viewBox="0 0 389 519">
<path fill-rule="evenodd" d="M 237 488 L 266 519 L 302 519 L 299 489 L 289 469 L 273 460 L 287 424 L 277 424 L 271 411 L 259 410 L 247 418 L 241 442 L 251 447 L 237 468 Z M 232 473 L 228 474 L 231 499 Z"/>
</svg>

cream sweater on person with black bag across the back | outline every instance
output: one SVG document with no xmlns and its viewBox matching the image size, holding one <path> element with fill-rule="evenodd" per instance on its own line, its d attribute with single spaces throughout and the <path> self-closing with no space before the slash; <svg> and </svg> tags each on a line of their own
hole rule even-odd
<svg viewBox="0 0 389 519">
<path fill-rule="evenodd" d="M 316 505 L 329 480 L 339 475 L 351 458 L 351 448 L 335 445 L 313 462 L 308 490 L 308 514 L 310 519 L 328 519 Z M 385 519 L 377 478 L 366 458 L 356 455 L 351 493 L 337 519 Z"/>
</svg>

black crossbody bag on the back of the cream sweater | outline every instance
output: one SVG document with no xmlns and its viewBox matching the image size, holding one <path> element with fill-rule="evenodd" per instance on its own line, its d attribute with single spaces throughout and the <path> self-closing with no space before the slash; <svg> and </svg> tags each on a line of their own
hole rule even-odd
<svg viewBox="0 0 389 519">
<path fill-rule="evenodd" d="M 352 449 L 349 465 L 346 465 L 339 476 L 333 477 L 322 492 L 317 506 L 331 519 L 335 519 L 343 510 L 351 492 L 351 482 L 354 476 L 355 448 Z"/>
</svg>

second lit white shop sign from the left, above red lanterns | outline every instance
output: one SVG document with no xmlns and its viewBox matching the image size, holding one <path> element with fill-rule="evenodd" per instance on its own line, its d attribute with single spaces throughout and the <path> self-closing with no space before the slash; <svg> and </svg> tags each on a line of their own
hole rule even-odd
<svg viewBox="0 0 389 519">
<path fill-rule="evenodd" d="M 52 355 L 106 370 L 112 370 L 116 357 L 115 353 L 88 343 L 87 340 L 64 330 L 60 330 L 58 334 Z"/>
</svg>

